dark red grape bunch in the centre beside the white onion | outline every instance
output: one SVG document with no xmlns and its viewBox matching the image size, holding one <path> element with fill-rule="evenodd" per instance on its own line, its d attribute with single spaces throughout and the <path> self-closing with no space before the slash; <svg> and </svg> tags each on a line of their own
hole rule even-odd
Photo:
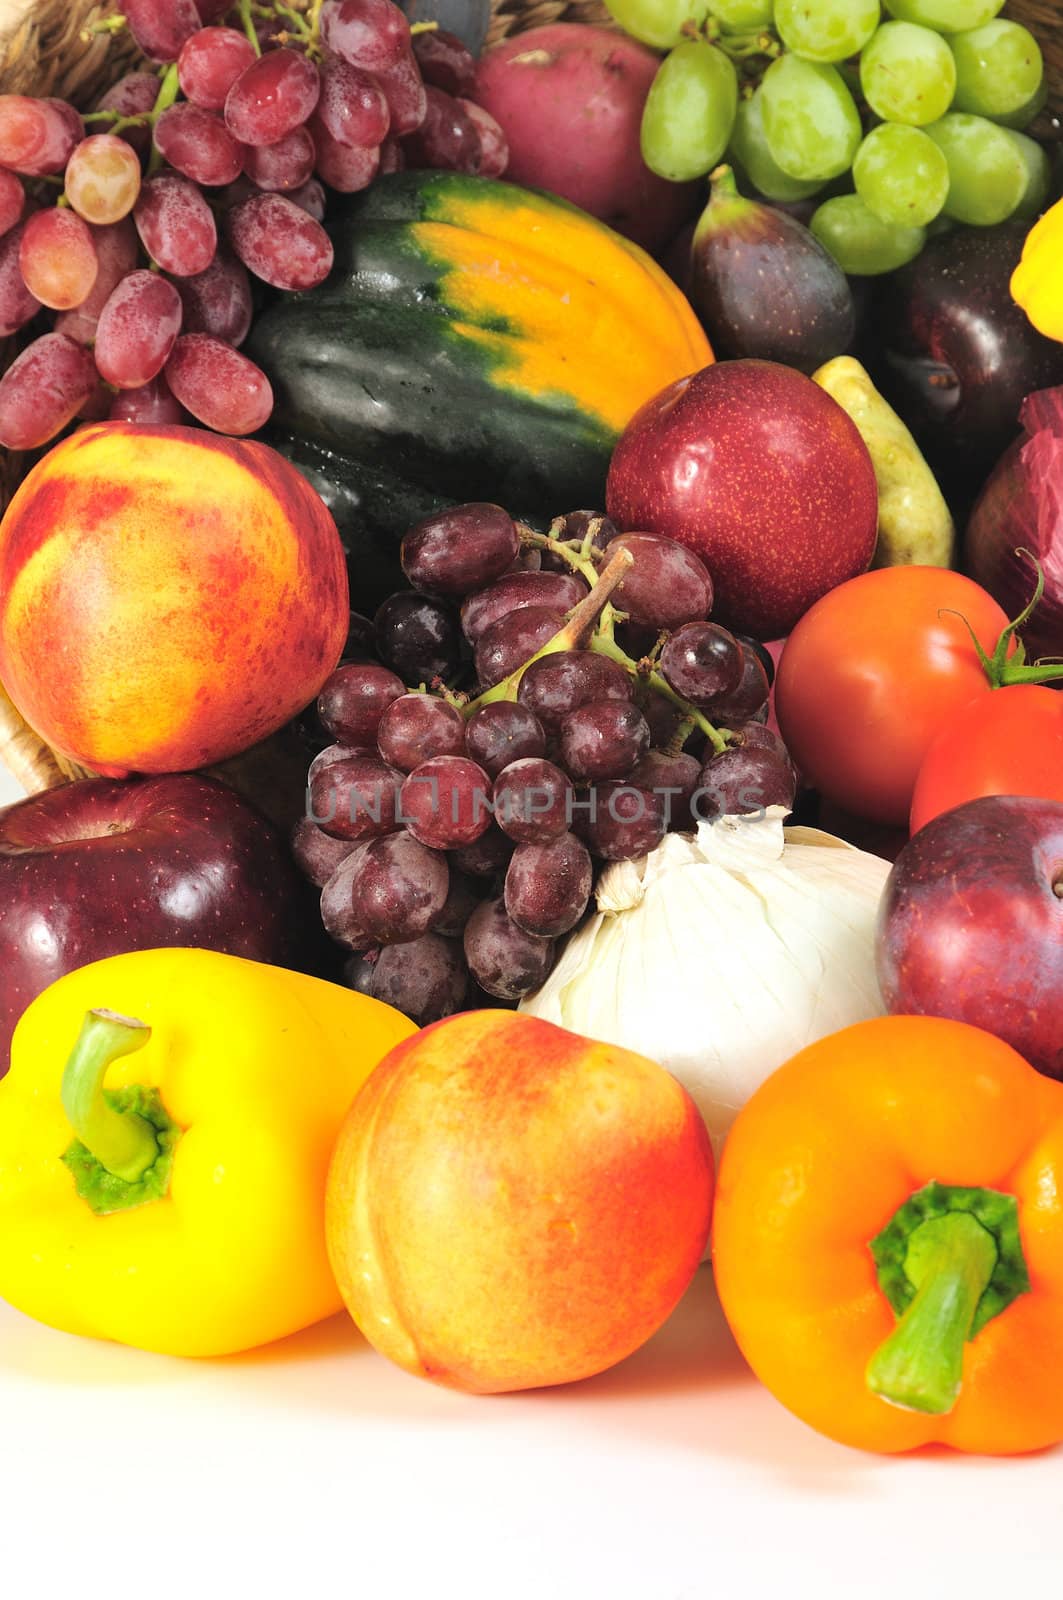
<svg viewBox="0 0 1063 1600">
<path fill-rule="evenodd" d="M 402 568 L 411 589 L 357 621 L 322 691 L 333 742 L 293 835 L 355 987 L 418 1022 L 512 1005 L 602 862 L 792 805 L 762 720 L 770 656 L 709 621 L 684 546 L 589 512 L 540 534 L 471 504 L 411 528 Z"/>
</svg>

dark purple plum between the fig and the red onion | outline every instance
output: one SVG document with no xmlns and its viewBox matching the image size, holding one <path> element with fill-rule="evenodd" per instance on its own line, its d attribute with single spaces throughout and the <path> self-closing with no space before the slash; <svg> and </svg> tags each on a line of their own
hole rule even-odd
<svg viewBox="0 0 1063 1600">
<path fill-rule="evenodd" d="M 973 496 L 1034 389 L 1063 382 L 1063 344 L 1010 294 L 1029 227 L 954 227 L 884 280 L 866 360 L 946 493 Z"/>
</svg>

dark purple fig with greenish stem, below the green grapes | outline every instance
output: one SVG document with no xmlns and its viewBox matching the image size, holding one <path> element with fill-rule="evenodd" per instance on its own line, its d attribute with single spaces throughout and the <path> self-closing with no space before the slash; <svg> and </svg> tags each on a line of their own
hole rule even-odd
<svg viewBox="0 0 1063 1600">
<path fill-rule="evenodd" d="M 813 373 L 853 338 L 845 274 L 797 218 L 743 198 L 730 166 L 711 182 L 693 235 L 690 299 L 712 349 Z"/>
</svg>

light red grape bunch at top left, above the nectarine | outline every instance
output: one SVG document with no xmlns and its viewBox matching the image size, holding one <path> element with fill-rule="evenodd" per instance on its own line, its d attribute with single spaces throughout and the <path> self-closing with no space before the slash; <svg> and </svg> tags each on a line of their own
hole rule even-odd
<svg viewBox="0 0 1063 1600">
<path fill-rule="evenodd" d="M 253 434 L 253 285 L 328 275 L 327 192 L 509 158 L 472 54 L 392 0 L 123 0 L 117 26 L 147 61 L 96 110 L 0 96 L 0 338 L 56 314 L 0 378 L 8 450 L 78 418 Z"/>
</svg>

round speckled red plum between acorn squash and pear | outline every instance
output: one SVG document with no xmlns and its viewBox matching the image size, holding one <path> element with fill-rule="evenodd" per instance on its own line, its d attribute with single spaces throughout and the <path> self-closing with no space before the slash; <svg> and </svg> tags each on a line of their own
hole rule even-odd
<svg viewBox="0 0 1063 1600">
<path fill-rule="evenodd" d="M 866 571 L 879 496 L 868 446 L 818 384 L 776 362 L 719 362 L 636 413 L 607 506 L 624 531 L 696 550 L 714 618 L 767 640 Z"/>
</svg>

